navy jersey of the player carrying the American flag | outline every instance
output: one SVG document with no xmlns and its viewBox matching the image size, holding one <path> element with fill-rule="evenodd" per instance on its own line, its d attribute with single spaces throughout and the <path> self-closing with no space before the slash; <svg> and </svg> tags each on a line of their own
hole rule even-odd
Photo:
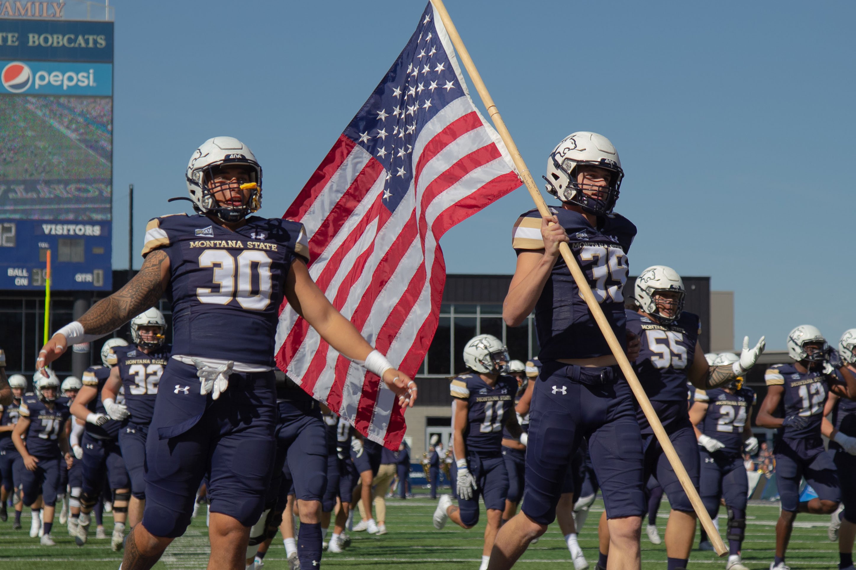
<svg viewBox="0 0 856 570">
<path fill-rule="evenodd" d="M 618 342 L 627 348 L 621 291 L 627 281 L 627 251 L 636 235 L 636 226 L 619 214 L 599 217 L 597 227 L 592 227 L 579 212 L 563 208 L 550 208 L 550 212 L 568 233 L 571 251 L 586 274 L 591 291 Z M 538 210 L 522 214 L 514 223 L 512 245 L 518 255 L 544 249 Z M 561 256 L 535 304 L 535 326 L 541 360 L 612 354 Z"/>
</svg>

